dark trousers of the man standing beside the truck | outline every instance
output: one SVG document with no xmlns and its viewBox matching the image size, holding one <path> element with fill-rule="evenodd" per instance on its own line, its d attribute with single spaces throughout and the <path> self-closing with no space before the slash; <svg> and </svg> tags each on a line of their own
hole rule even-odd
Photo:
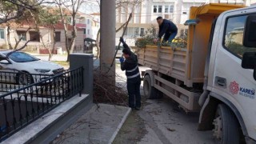
<svg viewBox="0 0 256 144">
<path fill-rule="evenodd" d="M 141 78 L 140 76 L 136 78 L 127 79 L 127 90 L 129 94 L 129 107 L 135 108 L 141 107 L 141 94 L 140 94 Z"/>
</svg>

